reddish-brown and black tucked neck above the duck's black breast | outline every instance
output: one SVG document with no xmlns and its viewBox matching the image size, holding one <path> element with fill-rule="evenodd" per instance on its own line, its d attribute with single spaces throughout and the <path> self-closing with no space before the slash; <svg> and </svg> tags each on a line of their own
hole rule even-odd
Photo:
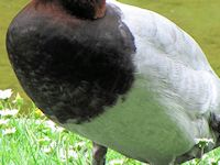
<svg viewBox="0 0 220 165">
<path fill-rule="evenodd" d="M 68 12 L 79 18 L 99 19 L 105 16 L 106 0 L 58 0 Z"/>
</svg>

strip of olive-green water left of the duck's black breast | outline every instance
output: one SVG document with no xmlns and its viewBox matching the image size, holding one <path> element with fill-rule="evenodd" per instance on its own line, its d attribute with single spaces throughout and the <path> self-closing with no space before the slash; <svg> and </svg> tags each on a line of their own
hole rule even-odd
<svg viewBox="0 0 220 165">
<path fill-rule="evenodd" d="M 9 23 L 26 2 L 26 0 L 0 1 L 0 89 L 12 88 L 14 91 L 20 91 L 22 96 L 24 96 L 24 92 L 8 61 L 4 41 Z"/>
</svg>

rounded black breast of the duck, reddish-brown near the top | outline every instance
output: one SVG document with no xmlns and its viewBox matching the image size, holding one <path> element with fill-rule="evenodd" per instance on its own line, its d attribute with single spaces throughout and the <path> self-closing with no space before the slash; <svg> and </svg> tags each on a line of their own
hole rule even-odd
<svg viewBox="0 0 220 165">
<path fill-rule="evenodd" d="M 30 4 L 12 21 L 7 48 L 30 98 L 64 123 L 89 121 L 112 107 L 134 80 L 134 38 L 116 7 L 99 20 Z"/>
</svg>

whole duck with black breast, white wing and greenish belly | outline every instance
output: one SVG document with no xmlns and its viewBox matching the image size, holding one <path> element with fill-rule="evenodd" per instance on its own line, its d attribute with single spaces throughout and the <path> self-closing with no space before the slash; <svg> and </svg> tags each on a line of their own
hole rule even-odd
<svg viewBox="0 0 220 165">
<path fill-rule="evenodd" d="M 219 77 L 163 15 L 116 0 L 32 0 L 12 20 L 7 51 L 43 113 L 94 142 L 92 165 L 108 148 L 168 165 L 219 146 Z"/>
</svg>

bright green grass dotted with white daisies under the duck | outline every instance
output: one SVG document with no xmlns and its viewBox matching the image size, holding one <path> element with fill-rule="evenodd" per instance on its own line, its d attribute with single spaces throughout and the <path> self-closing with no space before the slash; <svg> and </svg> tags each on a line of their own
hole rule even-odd
<svg viewBox="0 0 220 165">
<path fill-rule="evenodd" d="M 2 95 L 4 94 L 4 95 Z M 2 97 L 3 96 L 3 97 Z M 0 91 L 1 165 L 89 165 L 91 142 L 48 120 L 34 105 L 30 113 L 19 113 L 24 105 L 20 95 Z M 108 165 L 144 165 L 109 150 Z M 220 150 L 184 165 L 218 165 Z"/>
</svg>

